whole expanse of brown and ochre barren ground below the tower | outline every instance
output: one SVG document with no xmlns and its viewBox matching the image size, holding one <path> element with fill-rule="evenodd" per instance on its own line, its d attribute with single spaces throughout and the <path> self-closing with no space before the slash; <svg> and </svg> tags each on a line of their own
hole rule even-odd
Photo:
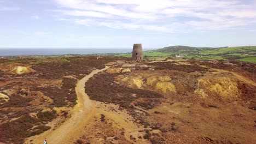
<svg viewBox="0 0 256 144">
<path fill-rule="evenodd" d="M 1 142 L 255 143 L 255 64 L 116 60 L 4 61 Z"/>
</svg>

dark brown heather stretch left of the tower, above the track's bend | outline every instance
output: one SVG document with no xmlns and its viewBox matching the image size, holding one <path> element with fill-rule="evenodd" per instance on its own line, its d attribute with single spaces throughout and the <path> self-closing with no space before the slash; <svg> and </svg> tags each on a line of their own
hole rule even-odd
<svg viewBox="0 0 256 144">
<path fill-rule="evenodd" d="M 104 64 L 115 60 L 126 58 L 104 56 L 97 59 L 97 56 L 68 57 L 59 61 L 42 62 L 33 65 L 32 69 L 44 79 L 60 79 L 66 75 L 88 75 L 92 68 L 102 69 Z M 50 60 L 50 58 L 49 58 Z"/>
</svg>

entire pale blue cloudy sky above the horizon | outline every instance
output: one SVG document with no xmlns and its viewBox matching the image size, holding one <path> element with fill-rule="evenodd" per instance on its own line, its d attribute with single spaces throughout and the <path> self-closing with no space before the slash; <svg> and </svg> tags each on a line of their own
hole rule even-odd
<svg viewBox="0 0 256 144">
<path fill-rule="evenodd" d="M 256 45 L 256 1 L 0 0 L 0 47 Z"/>
</svg>

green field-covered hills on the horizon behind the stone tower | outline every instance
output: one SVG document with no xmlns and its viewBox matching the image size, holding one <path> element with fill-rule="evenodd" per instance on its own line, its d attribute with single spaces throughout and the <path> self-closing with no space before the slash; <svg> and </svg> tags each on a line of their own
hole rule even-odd
<svg viewBox="0 0 256 144">
<path fill-rule="evenodd" d="M 131 53 L 118 56 L 131 57 Z M 205 60 L 237 60 L 256 63 L 256 46 L 238 47 L 190 47 L 168 46 L 162 49 L 144 51 L 144 58 L 194 58 Z"/>
</svg>

